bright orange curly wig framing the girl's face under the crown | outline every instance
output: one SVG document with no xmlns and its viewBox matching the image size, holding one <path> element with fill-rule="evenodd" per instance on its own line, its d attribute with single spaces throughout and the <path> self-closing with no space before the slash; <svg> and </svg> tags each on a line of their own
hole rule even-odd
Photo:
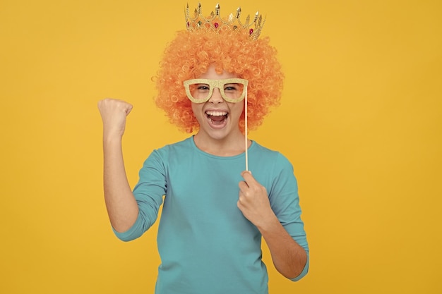
<svg viewBox="0 0 442 294">
<path fill-rule="evenodd" d="M 192 133 L 199 129 L 191 101 L 184 90 L 184 80 L 198 78 L 215 65 L 215 71 L 234 73 L 249 80 L 247 88 L 247 124 L 249 130 L 263 123 L 270 108 L 280 104 L 284 75 L 277 61 L 277 51 L 270 39 L 251 40 L 249 32 L 236 30 L 181 30 L 164 52 L 157 72 L 155 103 L 169 121 Z M 244 111 L 239 128 L 244 132 Z"/>
</svg>

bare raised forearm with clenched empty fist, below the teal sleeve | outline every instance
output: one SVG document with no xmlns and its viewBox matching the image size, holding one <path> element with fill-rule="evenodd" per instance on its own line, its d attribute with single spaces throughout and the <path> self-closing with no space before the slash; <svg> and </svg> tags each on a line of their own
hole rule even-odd
<svg viewBox="0 0 442 294">
<path fill-rule="evenodd" d="M 98 102 L 98 109 L 103 121 L 104 200 L 112 227 L 124 232 L 138 218 L 138 204 L 127 180 L 121 145 L 132 105 L 118 99 L 103 99 Z"/>
</svg>

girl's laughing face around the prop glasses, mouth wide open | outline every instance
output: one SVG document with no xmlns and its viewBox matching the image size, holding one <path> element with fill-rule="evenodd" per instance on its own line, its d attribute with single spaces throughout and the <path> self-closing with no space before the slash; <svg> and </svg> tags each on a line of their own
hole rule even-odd
<svg viewBox="0 0 442 294">
<path fill-rule="evenodd" d="M 210 66 L 206 73 L 198 79 L 222 80 L 238 78 L 237 75 L 227 73 L 217 74 L 214 66 Z M 225 90 L 227 91 L 227 90 Z M 241 134 L 239 118 L 244 109 L 244 100 L 241 102 L 227 102 L 222 98 L 220 90 L 214 88 L 208 101 L 203 103 L 192 102 L 193 114 L 200 124 L 199 135 L 208 135 L 213 139 L 222 140 L 229 136 Z"/>
</svg>

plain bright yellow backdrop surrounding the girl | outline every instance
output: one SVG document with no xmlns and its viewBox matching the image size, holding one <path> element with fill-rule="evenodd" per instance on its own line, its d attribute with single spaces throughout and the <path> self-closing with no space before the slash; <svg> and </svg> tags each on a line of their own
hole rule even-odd
<svg viewBox="0 0 442 294">
<path fill-rule="evenodd" d="M 227 0 L 223 15 L 239 4 L 267 16 L 287 75 L 250 137 L 292 161 L 311 248 L 297 283 L 264 249 L 270 293 L 442 293 L 442 2 Z M 187 137 L 150 81 L 185 5 L 0 2 L 0 293 L 153 293 L 156 225 L 122 243 L 107 220 L 97 101 L 134 105 L 134 185 Z"/>
</svg>

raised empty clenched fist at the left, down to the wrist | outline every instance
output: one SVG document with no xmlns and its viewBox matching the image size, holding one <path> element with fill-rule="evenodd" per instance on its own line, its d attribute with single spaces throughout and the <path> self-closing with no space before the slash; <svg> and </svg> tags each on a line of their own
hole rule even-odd
<svg viewBox="0 0 442 294">
<path fill-rule="evenodd" d="M 103 99 L 98 102 L 103 121 L 104 137 L 119 136 L 124 134 L 126 116 L 132 110 L 132 105 L 119 99 Z"/>
</svg>

